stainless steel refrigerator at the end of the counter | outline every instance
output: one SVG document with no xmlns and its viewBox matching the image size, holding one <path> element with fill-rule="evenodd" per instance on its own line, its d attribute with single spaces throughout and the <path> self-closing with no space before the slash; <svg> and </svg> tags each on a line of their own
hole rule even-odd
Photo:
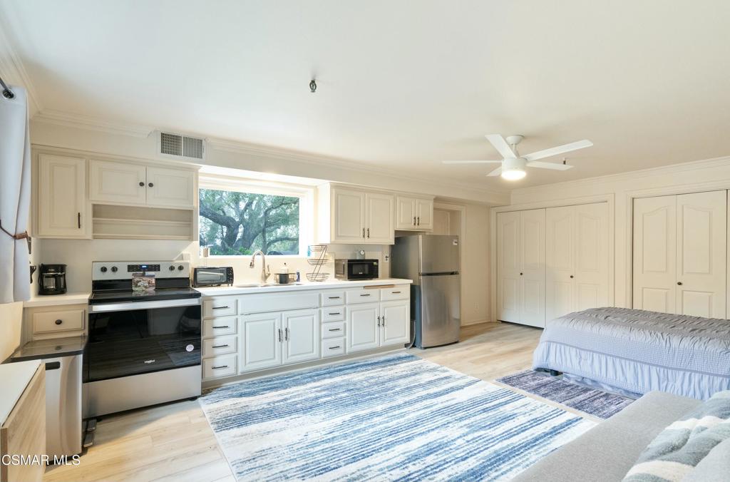
<svg viewBox="0 0 730 482">
<path fill-rule="evenodd" d="M 396 238 L 391 275 L 413 280 L 411 317 L 418 348 L 458 342 L 461 275 L 458 236 L 413 234 Z"/>
</svg>

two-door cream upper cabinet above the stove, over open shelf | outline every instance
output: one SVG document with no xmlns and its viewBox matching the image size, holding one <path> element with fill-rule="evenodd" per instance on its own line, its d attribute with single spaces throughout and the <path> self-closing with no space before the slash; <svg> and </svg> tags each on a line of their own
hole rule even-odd
<svg viewBox="0 0 730 482">
<path fill-rule="evenodd" d="M 195 171 L 89 161 L 89 198 L 106 204 L 195 207 Z"/>
</svg>

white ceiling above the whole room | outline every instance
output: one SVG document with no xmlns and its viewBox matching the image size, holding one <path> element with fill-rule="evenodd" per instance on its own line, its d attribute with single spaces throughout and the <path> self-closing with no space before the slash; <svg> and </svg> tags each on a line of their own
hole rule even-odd
<svg viewBox="0 0 730 482">
<path fill-rule="evenodd" d="M 0 15 L 43 109 L 485 189 L 730 154 L 726 0 L 0 0 Z M 594 147 L 517 183 L 440 163 L 499 158 L 487 133 L 524 134 L 522 153 Z"/>
</svg>

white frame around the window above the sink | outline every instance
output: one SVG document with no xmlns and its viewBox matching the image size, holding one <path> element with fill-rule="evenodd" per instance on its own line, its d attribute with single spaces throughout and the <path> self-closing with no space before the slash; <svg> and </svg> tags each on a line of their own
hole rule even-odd
<svg viewBox="0 0 730 482">
<path fill-rule="evenodd" d="M 307 247 L 314 242 L 315 237 L 315 188 L 313 188 L 312 186 L 289 183 L 276 183 L 272 181 L 249 179 L 246 177 L 206 174 L 200 175 L 198 189 L 215 189 L 216 191 L 237 191 L 251 194 L 269 194 L 272 196 L 298 197 L 299 254 L 272 256 L 274 256 L 276 259 L 307 257 Z M 198 216 L 200 216 L 200 213 L 198 213 Z M 198 236 L 196 239 L 200 240 L 200 232 L 198 232 Z M 241 259 L 243 256 L 226 254 L 211 255 L 210 257 L 216 259 Z"/>
</svg>

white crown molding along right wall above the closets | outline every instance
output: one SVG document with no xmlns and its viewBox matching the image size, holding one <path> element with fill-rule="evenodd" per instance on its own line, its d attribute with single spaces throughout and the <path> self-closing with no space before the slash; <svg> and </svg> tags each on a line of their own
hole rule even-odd
<svg viewBox="0 0 730 482">
<path fill-rule="evenodd" d="M 518 188 L 512 191 L 513 195 L 523 196 L 525 194 L 538 194 L 545 191 L 554 191 L 556 189 L 574 188 L 584 185 L 585 183 L 621 183 L 627 180 L 636 180 L 642 177 L 653 177 L 656 175 L 681 174 L 688 171 L 697 171 L 699 169 L 716 169 L 718 167 L 727 167 L 730 164 L 730 156 L 715 157 L 710 159 L 701 159 L 699 161 L 685 161 L 677 164 L 669 164 L 667 166 L 649 167 L 647 169 L 637 169 L 636 171 L 618 172 L 596 177 L 585 177 L 583 179 L 575 179 L 562 181 L 560 183 L 534 185 L 529 188 Z"/>
</svg>

